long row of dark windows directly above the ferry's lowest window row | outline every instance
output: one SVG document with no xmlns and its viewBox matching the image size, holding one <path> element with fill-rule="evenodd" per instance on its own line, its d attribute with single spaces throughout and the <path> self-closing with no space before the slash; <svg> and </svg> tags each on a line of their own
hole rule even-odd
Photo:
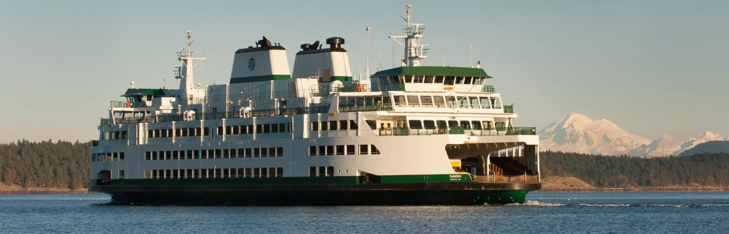
<svg viewBox="0 0 729 234">
<path fill-rule="evenodd" d="M 182 160 L 235 157 L 284 157 L 284 147 L 241 149 L 189 149 L 173 151 L 147 151 L 144 160 Z"/>
</svg>

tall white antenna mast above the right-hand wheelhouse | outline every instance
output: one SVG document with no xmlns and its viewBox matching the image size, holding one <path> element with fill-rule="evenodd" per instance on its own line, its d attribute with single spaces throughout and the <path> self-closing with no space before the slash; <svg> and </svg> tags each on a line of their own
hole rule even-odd
<svg viewBox="0 0 729 234">
<path fill-rule="evenodd" d="M 428 50 L 424 49 L 423 47 L 430 44 L 418 44 L 420 42 L 420 39 L 423 38 L 423 29 L 420 28 L 422 26 L 422 23 L 412 23 L 413 18 L 413 11 L 410 9 L 410 7 L 413 7 L 413 5 L 405 5 L 405 7 L 408 7 L 408 28 L 403 29 L 405 31 L 405 36 L 389 36 L 389 38 L 394 39 L 395 42 L 402 45 L 405 49 L 405 56 L 402 59 L 405 63 L 405 66 L 421 66 L 421 59 L 428 58 Z M 405 44 L 402 44 L 397 41 L 397 39 L 403 39 L 403 42 Z"/>
</svg>

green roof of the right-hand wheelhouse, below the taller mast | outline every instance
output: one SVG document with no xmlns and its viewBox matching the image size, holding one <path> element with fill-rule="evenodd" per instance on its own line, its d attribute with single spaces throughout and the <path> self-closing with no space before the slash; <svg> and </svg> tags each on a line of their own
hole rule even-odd
<svg viewBox="0 0 729 234">
<path fill-rule="evenodd" d="M 451 66 L 401 66 L 394 69 L 378 71 L 372 77 L 386 76 L 454 76 L 454 77 L 489 77 L 483 69 L 451 67 Z"/>
</svg>

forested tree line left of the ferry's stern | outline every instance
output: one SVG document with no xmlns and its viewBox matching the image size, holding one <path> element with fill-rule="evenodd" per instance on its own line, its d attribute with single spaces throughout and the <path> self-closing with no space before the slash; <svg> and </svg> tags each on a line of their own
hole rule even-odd
<svg viewBox="0 0 729 234">
<path fill-rule="evenodd" d="M 25 139 L 0 144 L 0 182 L 45 188 L 87 187 L 91 141 L 31 142 Z"/>
</svg>

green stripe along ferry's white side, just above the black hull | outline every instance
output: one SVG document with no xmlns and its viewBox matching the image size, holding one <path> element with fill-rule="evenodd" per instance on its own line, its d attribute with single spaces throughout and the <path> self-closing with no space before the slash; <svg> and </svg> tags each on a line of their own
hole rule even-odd
<svg viewBox="0 0 729 234">
<path fill-rule="evenodd" d="M 458 177 L 460 176 L 460 177 Z M 456 177 L 456 178 L 451 178 Z M 382 184 L 471 182 L 465 174 L 380 176 Z M 302 176 L 204 179 L 112 179 L 109 185 L 223 185 L 223 184 L 358 184 L 359 176 Z"/>
</svg>

